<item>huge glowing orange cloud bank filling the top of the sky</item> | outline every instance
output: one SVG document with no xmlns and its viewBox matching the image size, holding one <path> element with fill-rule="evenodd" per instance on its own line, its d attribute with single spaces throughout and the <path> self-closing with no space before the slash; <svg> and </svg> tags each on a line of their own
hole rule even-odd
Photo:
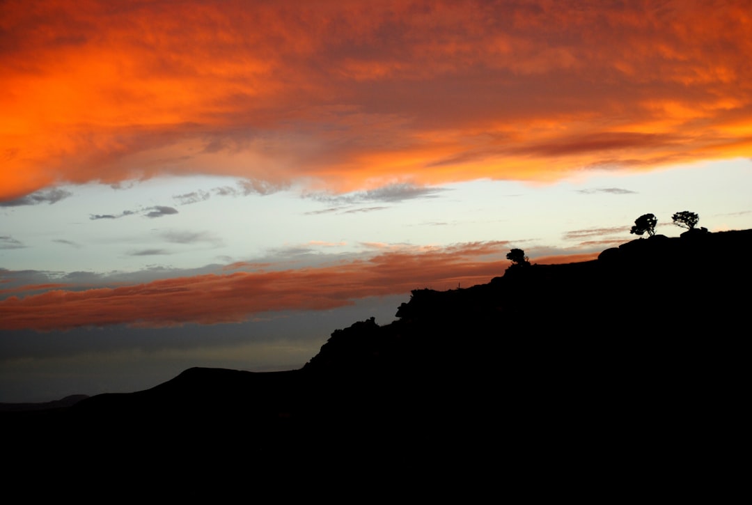
<svg viewBox="0 0 752 505">
<path fill-rule="evenodd" d="M 752 153 L 749 2 L 2 2 L 0 199 L 332 190 Z"/>
</svg>

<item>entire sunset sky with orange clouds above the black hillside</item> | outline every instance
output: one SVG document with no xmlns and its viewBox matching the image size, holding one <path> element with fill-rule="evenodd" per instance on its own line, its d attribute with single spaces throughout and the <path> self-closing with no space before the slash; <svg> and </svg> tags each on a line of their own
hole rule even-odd
<svg viewBox="0 0 752 505">
<path fill-rule="evenodd" d="M 748 229 L 750 33 L 752 0 L 2 0 L 0 402 L 299 368 L 641 214 Z"/>
</svg>

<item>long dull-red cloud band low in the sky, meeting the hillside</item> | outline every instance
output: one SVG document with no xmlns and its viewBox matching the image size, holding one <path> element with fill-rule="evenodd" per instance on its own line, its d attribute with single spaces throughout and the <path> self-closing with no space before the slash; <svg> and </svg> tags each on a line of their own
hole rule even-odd
<svg viewBox="0 0 752 505">
<path fill-rule="evenodd" d="M 490 281 L 508 265 L 507 242 L 472 242 L 447 248 L 397 246 L 366 260 L 304 269 L 239 271 L 166 278 L 143 284 L 73 291 L 50 289 L 0 301 L 0 330 L 65 330 L 129 324 L 163 327 L 246 321 L 283 310 L 326 310 L 365 297 L 408 294 L 418 287 L 446 289 Z M 142 251 L 159 254 L 159 251 Z M 44 312 L 45 317 L 39 314 Z"/>
</svg>

